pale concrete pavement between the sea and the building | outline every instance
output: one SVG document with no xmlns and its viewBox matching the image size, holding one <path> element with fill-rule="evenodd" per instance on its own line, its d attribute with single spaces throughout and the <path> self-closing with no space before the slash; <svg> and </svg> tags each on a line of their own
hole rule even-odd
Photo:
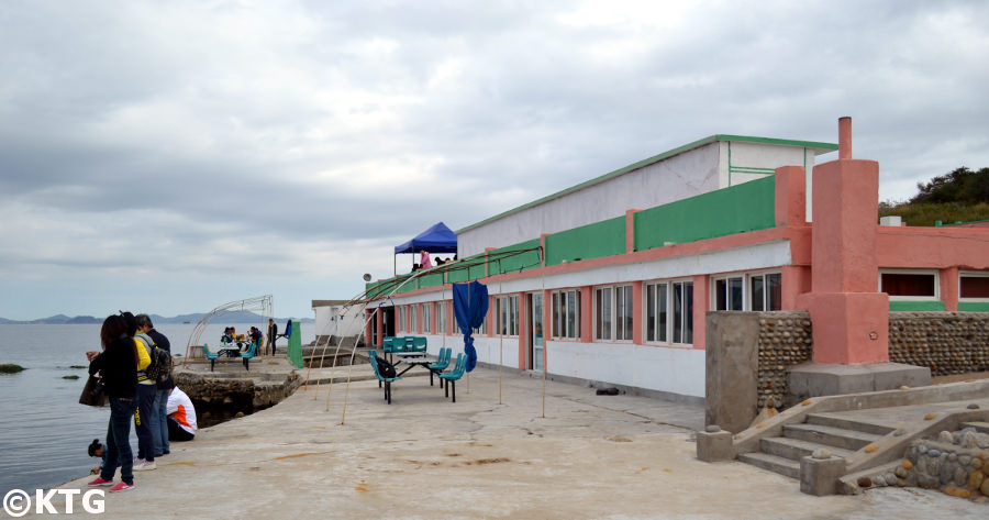
<svg viewBox="0 0 989 520">
<path fill-rule="evenodd" d="M 345 374 L 346 367 L 336 368 Z M 414 372 L 415 369 L 413 369 Z M 302 376 L 304 377 L 304 370 Z M 370 373 L 367 365 L 354 375 Z M 468 391 L 469 386 L 469 391 Z M 427 377 L 299 389 L 173 443 L 104 518 L 979 518 L 989 506 L 920 489 L 812 497 L 738 462 L 696 460 L 703 408 L 478 368 L 457 402 Z M 327 394 L 330 394 L 327 408 Z M 346 414 L 344 416 L 344 399 Z M 341 424 L 342 419 L 345 421 Z M 64 488 L 86 488 L 78 479 Z M 57 502 L 57 500 L 56 500 Z"/>
</svg>

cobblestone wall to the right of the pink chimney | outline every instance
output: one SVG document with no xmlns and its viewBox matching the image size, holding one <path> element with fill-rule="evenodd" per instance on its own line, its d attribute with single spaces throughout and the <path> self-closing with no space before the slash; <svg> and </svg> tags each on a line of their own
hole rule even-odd
<svg viewBox="0 0 989 520">
<path fill-rule="evenodd" d="M 889 361 L 932 376 L 989 370 L 989 312 L 890 312 Z"/>
</svg>

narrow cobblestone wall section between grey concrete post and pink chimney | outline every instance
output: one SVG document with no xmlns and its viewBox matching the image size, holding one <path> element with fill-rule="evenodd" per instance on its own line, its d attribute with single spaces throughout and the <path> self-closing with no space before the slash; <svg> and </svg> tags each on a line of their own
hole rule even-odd
<svg viewBox="0 0 989 520">
<path fill-rule="evenodd" d="M 807 311 L 758 312 L 759 409 L 784 406 L 787 368 L 811 358 L 813 332 Z"/>
</svg>

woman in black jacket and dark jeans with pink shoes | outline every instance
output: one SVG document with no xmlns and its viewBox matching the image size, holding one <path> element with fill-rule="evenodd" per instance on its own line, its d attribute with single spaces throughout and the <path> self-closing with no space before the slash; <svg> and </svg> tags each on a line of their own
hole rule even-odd
<svg viewBox="0 0 989 520">
<path fill-rule="evenodd" d="M 125 491 L 134 488 L 134 458 L 129 438 L 136 406 L 137 357 L 134 339 L 127 335 L 123 317 L 108 317 L 100 330 L 100 340 L 103 352 L 87 352 L 86 357 L 89 358 L 89 373 L 100 373 L 104 391 L 110 397 L 110 424 L 107 428 L 107 464 L 89 485 L 113 485 L 113 474 L 119 465 L 121 482 L 110 490 Z"/>
</svg>

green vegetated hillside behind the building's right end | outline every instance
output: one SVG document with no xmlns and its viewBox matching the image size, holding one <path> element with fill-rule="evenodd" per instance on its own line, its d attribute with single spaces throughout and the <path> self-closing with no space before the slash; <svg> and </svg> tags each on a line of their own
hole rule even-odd
<svg viewBox="0 0 989 520">
<path fill-rule="evenodd" d="M 899 215 L 908 225 L 936 225 L 989 220 L 989 168 L 960 167 L 929 182 L 905 202 L 879 203 L 879 217 Z"/>
</svg>

